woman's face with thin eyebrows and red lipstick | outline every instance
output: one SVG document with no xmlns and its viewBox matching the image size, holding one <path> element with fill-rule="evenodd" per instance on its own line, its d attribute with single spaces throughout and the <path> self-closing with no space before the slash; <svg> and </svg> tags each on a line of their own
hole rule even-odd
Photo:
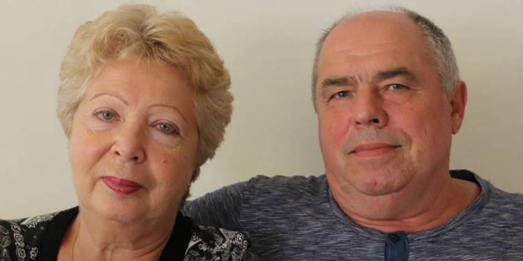
<svg viewBox="0 0 523 261">
<path fill-rule="evenodd" d="M 81 212 L 121 223 L 173 219 L 195 169 L 192 95 L 169 66 L 127 58 L 100 68 L 70 134 Z"/>
</svg>

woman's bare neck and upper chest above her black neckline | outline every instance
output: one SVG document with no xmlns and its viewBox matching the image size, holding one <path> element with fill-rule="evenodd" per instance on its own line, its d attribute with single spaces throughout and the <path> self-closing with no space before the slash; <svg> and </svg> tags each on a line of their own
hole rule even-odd
<svg viewBox="0 0 523 261">
<path fill-rule="evenodd" d="M 80 211 L 66 232 L 58 260 L 158 260 L 175 218 L 122 224 Z"/>
</svg>

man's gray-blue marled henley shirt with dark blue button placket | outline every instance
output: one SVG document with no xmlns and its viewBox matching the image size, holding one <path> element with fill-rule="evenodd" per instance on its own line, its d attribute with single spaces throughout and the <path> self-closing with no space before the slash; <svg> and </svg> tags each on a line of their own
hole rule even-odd
<svg viewBox="0 0 523 261">
<path fill-rule="evenodd" d="M 253 177 L 188 202 L 195 221 L 249 232 L 262 260 L 523 260 L 523 195 L 501 191 L 469 171 L 480 196 L 448 223 L 391 232 L 352 222 L 325 175 Z"/>
</svg>

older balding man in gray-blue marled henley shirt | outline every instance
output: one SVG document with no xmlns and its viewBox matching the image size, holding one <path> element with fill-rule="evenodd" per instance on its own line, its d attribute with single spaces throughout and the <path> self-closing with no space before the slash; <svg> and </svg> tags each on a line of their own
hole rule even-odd
<svg viewBox="0 0 523 261">
<path fill-rule="evenodd" d="M 523 195 L 449 171 L 467 86 L 441 29 L 400 8 L 344 17 L 312 93 L 325 175 L 254 177 L 185 213 L 250 232 L 263 260 L 523 260 Z"/>
</svg>

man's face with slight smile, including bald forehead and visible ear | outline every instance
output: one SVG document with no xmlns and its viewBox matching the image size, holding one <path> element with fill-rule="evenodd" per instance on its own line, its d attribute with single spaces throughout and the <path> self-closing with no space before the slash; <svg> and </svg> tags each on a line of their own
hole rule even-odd
<svg viewBox="0 0 523 261">
<path fill-rule="evenodd" d="M 423 32 L 397 13 L 356 15 L 328 35 L 315 103 L 331 188 L 385 196 L 448 175 L 466 87 L 444 93 L 430 57 Z"/>
</svg>

